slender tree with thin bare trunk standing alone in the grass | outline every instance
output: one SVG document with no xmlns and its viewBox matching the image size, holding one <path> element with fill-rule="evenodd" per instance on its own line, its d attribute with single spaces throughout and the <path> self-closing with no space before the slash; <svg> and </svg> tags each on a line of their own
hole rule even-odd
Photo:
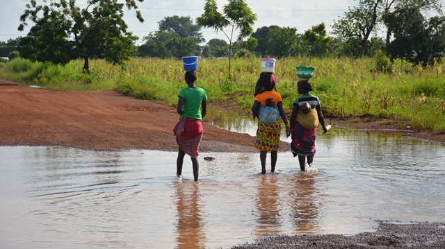
<svg viewBox="0 0 445 249">
<path fill-rule="evenodd" d="M 213 28 L 215 31 L 221 31 L 229 40 L 229 71 L 231 71 L 232 46 L 234 44 L 234 31 L 238 29 L 238 41 L 249 37 L 253 32 L 253 24 L 257 20 L 257 15 L 252 12 L 243 0 L 228 0 L 224 6 L 224 15 L 218 12 L 218 6 L 215 0 L 206 0 L 204 14 L 197 17 L 198 25 Z M 225 27 L 230 26 L 230 33 L 226 33 Z"/>
</svg>

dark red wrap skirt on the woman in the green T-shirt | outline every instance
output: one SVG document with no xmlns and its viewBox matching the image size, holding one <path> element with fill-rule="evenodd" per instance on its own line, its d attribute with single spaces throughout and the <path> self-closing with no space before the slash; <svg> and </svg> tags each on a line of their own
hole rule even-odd
<svg viewBox="0 0 445 249">
<path fill-rule="evenodd" d="M 200 155 L 200 144 L 204 134 L 201 120 L 181 117 L 173 132 L 175 132 L 176 142 L 182 151 L 191 157 Z"/>
</svg>

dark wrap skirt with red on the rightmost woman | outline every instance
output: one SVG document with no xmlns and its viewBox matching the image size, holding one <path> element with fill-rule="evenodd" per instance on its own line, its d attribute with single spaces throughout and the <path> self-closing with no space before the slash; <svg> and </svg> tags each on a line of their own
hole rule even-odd
<svg viewBox="0 0 445 249">
<path fill-rule="evenodd" d="M 291 151 L 296 155 L 315 155 L 316 128 L 307 129 L 296 122 L 291 129 Z"/>
</svg>

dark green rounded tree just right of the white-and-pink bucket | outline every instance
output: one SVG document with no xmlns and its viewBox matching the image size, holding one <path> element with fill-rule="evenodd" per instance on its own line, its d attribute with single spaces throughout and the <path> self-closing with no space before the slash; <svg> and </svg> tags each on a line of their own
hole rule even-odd
<svg viewBox="0 0 445 249">
<path fill-rule="evenodd" d="M 296 54 L 297 46 L 296 28 L 273 28 L 266 37 L 266 55 L 283 57 Z"/>
</svg>

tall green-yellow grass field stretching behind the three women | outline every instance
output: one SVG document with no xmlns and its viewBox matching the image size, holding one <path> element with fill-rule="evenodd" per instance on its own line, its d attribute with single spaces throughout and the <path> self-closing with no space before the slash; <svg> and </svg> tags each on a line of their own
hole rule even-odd
<svg viewBox="0 0 445 249">
<path fill-rule="evenodd" d="M 232 59 L 230 74 L 228 63 L 227 59 L 200 58 L 196 85 L 206 90 L 209 102 L 248 113 L 261 69 L 260 59 Z M 167 105 L 174 105 L 179 89 L 186 87 L 182 62 L 177 59 L 132 58 L 122 66 L 93 60 L 90 65 L 91 73 L 83 74 L 81 60 L 61 67 L 18 58 L 0 63 L 0 78 L 61 91 L 118 89 Z M 277 91 L 288 112 L 298 96 L 297 65 L 316 67 L 311 79 L 312 94 L 321 99 L 327 112 L 345 117 L 371 114 L 398 119 L 401 126 L 416 130 L 445 132 L 444 62 L 422 68 L 404 60 L 388 65 L 382 55 L 375 59 L 281 58 L 277 60 L 275 76 Z"/>
</svg>

